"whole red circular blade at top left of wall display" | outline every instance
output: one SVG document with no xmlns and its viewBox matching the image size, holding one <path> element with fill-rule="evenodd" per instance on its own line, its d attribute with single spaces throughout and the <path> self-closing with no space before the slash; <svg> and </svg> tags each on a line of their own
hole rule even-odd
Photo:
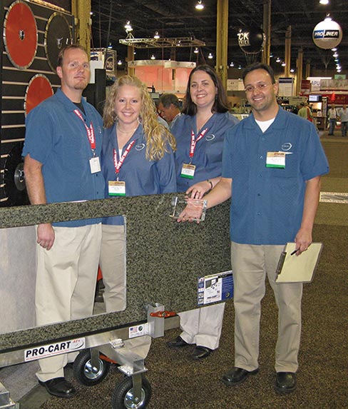
<svg viewBox="0 0 348 409">
<path fill-rule="evenodd" d="M 14 1 L 4 20 L 4 44 L 12 64 L 27 69 L 34 61 L 38 30 L 31 8 L 24 1 Z"/>
</svg>

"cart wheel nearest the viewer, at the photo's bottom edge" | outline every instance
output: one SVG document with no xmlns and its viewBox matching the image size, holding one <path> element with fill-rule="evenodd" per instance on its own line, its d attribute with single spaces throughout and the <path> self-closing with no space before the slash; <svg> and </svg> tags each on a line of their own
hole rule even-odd
<svg viewBox="0 0 348 409">
<path fill-rule="evenodd" d="M 113 391 L 112 405 L 113 409 L 143 409 L 148 405 L 151 398 L 151 385 L 149 381 L 141 378 L 141 397 L 135 402 L 133 396 L 133 379 L 131 376 L 119 383 Z"/>
</svg>

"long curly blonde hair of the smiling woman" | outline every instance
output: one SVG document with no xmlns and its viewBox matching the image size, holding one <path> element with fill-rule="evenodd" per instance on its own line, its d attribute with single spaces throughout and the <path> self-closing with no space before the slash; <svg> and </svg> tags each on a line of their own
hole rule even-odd
<svg viewBox="0 0 348 409">
<path fill-rule="evenodd" d="M 115 99 L 121 86 L 135 86 L 140 91 L 141 108 L 140 122 L 143 124 L 146 140 L 146 158 L 158 161 L 163 158 L 170 148 L 175 151 L 175 138 L 165 126 L 157 120 L 155 104 L 148 94 L 146 85 L 136 76 L 121 76 L 109 89 L 103 111 L 103 121 L 106 128 L 110 128 L 117 121 L 115 112 Z"/>
</svg>

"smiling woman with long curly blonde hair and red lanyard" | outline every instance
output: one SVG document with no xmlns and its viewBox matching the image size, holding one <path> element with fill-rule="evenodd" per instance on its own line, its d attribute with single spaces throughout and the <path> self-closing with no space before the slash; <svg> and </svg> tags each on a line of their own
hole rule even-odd
<svg viewBox="0 0 348 409">
<path fill-rule="evenodd" d="M 147 87 L 121 76 L 108 92 L 101 166 L 106 198 L 176 192 L 175 139 L 156 117 Z M 126 235 L 122 216 L 103 219 L 101 271 L 106 312 L 126 308 Z M 150 337 L 141 337 L 150 338 Z M 138 346 L 140 338 L 132 340 Z M 147 355 L 149 340 L 135 352 Z M 131 342 L 131 340 L 129 340 Z M 128 345 L 129 346 L 129 345 Z"/>
</svg>

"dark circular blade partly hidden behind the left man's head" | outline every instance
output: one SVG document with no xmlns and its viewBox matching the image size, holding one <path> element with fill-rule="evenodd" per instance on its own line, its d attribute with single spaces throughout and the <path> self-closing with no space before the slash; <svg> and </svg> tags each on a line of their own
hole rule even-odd
<svg viewBox="0 0 348 409">
<path fill-rule="evenodd" d="M 48 64 L 56 72 L 58 54 L 63 47 L 71 44 L 72 35 L 68 20 L 61 13 L 53 13 L 45 30 L 45 52 Z"/>
</svg>

